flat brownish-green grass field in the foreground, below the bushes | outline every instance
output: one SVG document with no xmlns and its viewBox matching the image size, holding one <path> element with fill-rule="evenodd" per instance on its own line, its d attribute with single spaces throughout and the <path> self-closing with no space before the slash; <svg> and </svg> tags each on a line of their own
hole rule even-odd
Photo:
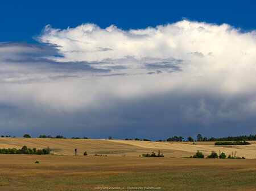
<svg viewBox="0 0 256 191">
<path fill-rule="evenodd" d="M 39 164 L 35 164 L 39 161 Z M 255 159 L 0 155 L 0 190 L 247 190 L 256 188 Z M 141 190 L 155 190 L 155 189 Z M 117 190 L 117 189 L 110 189 Z"/>
</svg>

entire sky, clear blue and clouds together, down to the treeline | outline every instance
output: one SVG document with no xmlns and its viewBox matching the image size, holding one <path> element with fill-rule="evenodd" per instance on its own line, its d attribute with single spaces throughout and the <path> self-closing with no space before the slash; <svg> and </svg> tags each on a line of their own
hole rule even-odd
<svg viewBox="0 0 256 191">
<path fill-rule="evenodd" d="M 256 134 L 253 1 L 6 1 L 0 134 Z"/>
</svg>

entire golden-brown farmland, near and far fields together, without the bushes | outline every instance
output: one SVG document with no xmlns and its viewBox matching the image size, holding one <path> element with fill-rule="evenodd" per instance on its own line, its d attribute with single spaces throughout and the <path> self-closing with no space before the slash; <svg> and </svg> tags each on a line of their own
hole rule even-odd
<svg viewBox="0 0 256 191">
<path fill-rule="evenodd" d="M 79 148 L 79 151 L 88 151 L 89 156 L 0 155 L 0 190 L 97 190 L 95 189 L 97 186 L 123 187 L 125 188 L 123 190 L 133 190 L 127 189 L 127 186 L 137 188 L 160 186 L 160 190 L 252 191 L 256 188 L 256 159 L 138 156 L 145 151 L 158 150 L 168 151 L 169 156 L 189 156 L 194 150 L 200 150 L 198 148 L 204 146 L 200 144 L 170 143 L 167 144 L 171 147 L 168 150 L 164 143 L 123 140 L 1 139 L 1 148 L 13 148 L 14 145 L 16 148 L 23 145 L 31 148 L 49 146 L 56 149 L 56 153 L 58 151 L 67 155 L 73 154 L 73 148 Z M 205 149 L 210 150 L 214 147 L 213 143 L 209 143 L 208 146 L 209 148 L 205 147 Z M 247 156 L 255 157 L 256 144 L 249 146 L 243 146 L 244 148 L 238 146 L 238 148 L 241 151 L 245 150 L 244 153 L 253 152 Z M 180 147 L 184 147 L 185 154 L 183 150 L 177 150 Z M 189 147 L 193 152 L 188 150 Z M 222 146 L 221 151 L 224 151 L 224 148 L 228 150 L 229 147 Z M 116 152 L 112 153 L 115 150 Z M 108 156 L 93 156 L 96 152 Z M 123 156 L 124 154 L 126 156 Z M 35 161 L 40 163 L 35 164 Z"/>
</svg>

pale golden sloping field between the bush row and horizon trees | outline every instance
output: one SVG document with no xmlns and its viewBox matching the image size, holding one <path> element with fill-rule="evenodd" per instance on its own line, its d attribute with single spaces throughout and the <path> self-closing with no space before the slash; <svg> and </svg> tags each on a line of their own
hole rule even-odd
<svg viewBox="0 0 256 191">
<path fill-rule="evenodd" d="M 237 151 L 237 156 L 246 159 L 256 159 L 256 141 L 246 146 L 214 146 L 214 142 L 145 142 L 135 140 L 105 140 L 105 139 L 39 139 L 39 138 L 0 138 L 0 148 L 46 148 L 58 155 L 73 155 L 77 148 L 79 155 L 87 151 L 89 155 L 108 156 L 139 156 L 142 153 L 164 153 L 165 157 L 188 157 L 197 150 L 209 155 L 211 151 L 225 152 L 228 156 Z"/>
</svg>

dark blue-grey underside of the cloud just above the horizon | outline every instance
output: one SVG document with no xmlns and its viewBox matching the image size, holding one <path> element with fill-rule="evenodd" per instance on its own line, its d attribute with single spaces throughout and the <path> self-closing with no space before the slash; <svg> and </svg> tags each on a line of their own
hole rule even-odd
<svg viewBox="0 0 256 191">
<path fill-rule="evenodd" d="M 100 110 L 80 110 L 76 112 L 46 112 L 32 107 L 14 107 L 2 104 L 0 120 L 2 134 L 22 136 L 30 133 L 89 136 L 90 138 L 115 139 L 149 138 L 165 139 L 169 136 L 236 136 L 255 134 L 256 119 L 243 113 L 236 105 L 238 99 L 205 95 L 180 96 L 166 94 L 148 99 L 133 99 L 123 102 L 118 99 L 102 102 Z M 201 110 L 202 100 L 205 110 Z M 220 110 L 222 105 L 225 108 Z M 234 112 L 235 111 L 235 112 Z M 223 116 L 220 116 L 222 113 Z M 228 116 L 233 113 L 232 116 Z M 225 117 L 224 117 L 225 116 Z M 239 118 L 237 118 L 239 116 Z"/>
</svg>

